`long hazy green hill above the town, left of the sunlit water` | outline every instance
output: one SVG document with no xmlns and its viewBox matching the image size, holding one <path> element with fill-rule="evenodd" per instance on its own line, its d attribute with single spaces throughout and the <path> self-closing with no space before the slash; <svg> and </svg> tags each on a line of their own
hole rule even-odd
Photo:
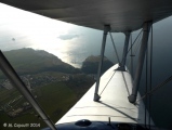
<svg viewBox="0 0 172 130">
<path fill-rule="evenodd" d="M 80 72 L 64 63 L 57 56 L 43 50 L 18 49 L 3 52 L 8 61 L 19 75 L 38 74 L 42 72 L 59 72 L 74 74 Z"/>
</svg>

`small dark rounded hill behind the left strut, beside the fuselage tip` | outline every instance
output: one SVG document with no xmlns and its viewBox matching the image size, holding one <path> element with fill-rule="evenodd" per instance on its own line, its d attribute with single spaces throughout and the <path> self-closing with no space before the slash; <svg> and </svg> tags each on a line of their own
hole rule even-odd
<svg viewBox="0 0 172 130">
<path fill-rule="evenodd" d="M 85 74 L 96 74 L 98 69 L 100 58 L 101 56 L 93 56 L 93 55 L 87 57 L 82 63 L 81 70 Z M 113 62 L 110 62 L 107 57 L 104 57 L 102 74 L 105 73 L 113 65 L 114 65 Z"/>
</svg>

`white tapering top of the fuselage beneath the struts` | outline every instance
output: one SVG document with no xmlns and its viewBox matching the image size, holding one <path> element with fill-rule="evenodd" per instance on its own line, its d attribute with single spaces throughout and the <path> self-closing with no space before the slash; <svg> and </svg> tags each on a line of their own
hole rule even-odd
<svg viewBox="0 0 172 130">
<path fill-rule="evenodd" d="M 131 92 L 133 86 L 131 75 L 128 72 L 116 70 L 116 68 L 118 68 L 118 64 L 114 65 L 101 77 L 100 102 L 93 101 L 95 90 L 95 84 L 93 84 L 56 125 L 76 122 L 80 119 L 107 122 L 108 117 L 110 117 L 111 122 L 144 125 L 144 103 L 141 101 L 134 105 L 128 101 L 129 92 Z M 137 99 L 140 99 L 140 94 Z M 147 113 L 147 123 L 148 117 Z M 151 125 L 154 125 L 153 121 Z"/>
</svg>

